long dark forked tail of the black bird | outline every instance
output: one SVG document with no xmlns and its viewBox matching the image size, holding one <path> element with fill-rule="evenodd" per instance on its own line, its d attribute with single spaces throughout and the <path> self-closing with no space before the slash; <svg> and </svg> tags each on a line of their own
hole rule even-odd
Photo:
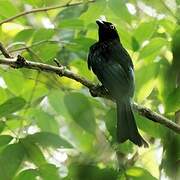
<svg viewBox="0 0 180 180">
<path fill-rule="evenodd" d="M 148 143 L 138 132 L 130 100 L 117 101 L 117 140 L 122 143 L 129 139 L 138 146 L 148 147 Z"/>
</svg>

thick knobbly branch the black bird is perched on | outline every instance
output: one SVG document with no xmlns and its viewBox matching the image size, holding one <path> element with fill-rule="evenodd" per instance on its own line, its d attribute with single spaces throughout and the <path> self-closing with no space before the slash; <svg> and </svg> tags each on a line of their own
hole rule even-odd
<svg viewBox="0 0 180 180">
<path fill-rule="evenodd" d="M 0 51 L 5 56 L 5 58 L 0 58 L 0 64 L 8 65 L 13 68 L 27 68 L 27 69 L 35 69 L 38 71 L 44 71 L 49 73 L 55 73 L 60 76 L 65 76 L 67 78 L 73 79 L 82 85 L 86 86 L 92 96 L 95 97 L 104 97 L 111 99 L 108 95 L 107 91 L 105 91 L 103 88 L 95 85 L 91 81 L 85 79 L 84 77 L 81 77 L 72 71 L 68 70 L 65 66 L 52 66 L 49 64 L 39 63 L 39 62 L 32 62 L 25 60 L 22 56 L 18 55 L 15 58 L 10 58 L 11 56 L 8 54 L 7 50 L 2 46 L 2 43 L 0 43 Z M 4 53 L 6 52 L 6 53 Z M 141 116 L 146 117 L 149 120 L 152 120 L 154 122 L 160 123 L 167 128 L 173 130 L 174 132 L 180 134 L 180 126 L 176 123 L 174 123 L 172 120 L 151 111 L 150 109 L 140 106 L 136 103 L 133 104 L 133 108 L 136 112 L 138 112 Z"/>
</svg>

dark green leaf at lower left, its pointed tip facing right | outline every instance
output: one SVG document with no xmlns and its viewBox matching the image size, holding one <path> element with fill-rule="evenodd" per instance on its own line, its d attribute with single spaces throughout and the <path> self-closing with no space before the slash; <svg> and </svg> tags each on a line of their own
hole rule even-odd
<svg viewBox="0 0 180 180">
<path fill-rule="evenodd" d="M 72 145 L 67 142 L 62 137 L 49 133 L 49 132 L 39 132 L 32 135 L 28 135 L 27 138 L 44 148 L 53 147 L 53 148 L 72 148 Z"/>
</svg>

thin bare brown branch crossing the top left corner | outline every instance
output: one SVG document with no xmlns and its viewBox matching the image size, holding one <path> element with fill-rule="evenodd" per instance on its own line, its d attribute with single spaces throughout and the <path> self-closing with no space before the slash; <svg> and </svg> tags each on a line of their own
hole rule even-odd
<svg viewBox="0 0 180 180">
<path fill-rule="evenodd" d="M 92 2 L 95 2 L 95 1 L 94 0 L 88 1 L 88 3 L 92 3 Z M 9 17 L 7 19 L 4 19 L 4 20 L 0 21 L 0 25 L 2 25 L 4 23 L 7 23 L 7 22 L 10 22 L 10 21 L 13 21 L 14 19 L 17 19 L 17 18 L 19 18 L 21 16 L 25 16 L 27 14 L 38 13 L 38 12 L 46 12 L 46 11 L 59 9 L 59 8 L 64 8 L 64 7 L 78 6 L 78 5 L 83 4 L 83 3 L 84 2 L 77 2 L 77 3 L 70 4 L 70 2 L 68 2 L 65 5 L 50 6 L 50 7 L 37 8 L 37 9 L 29 10 L 29 11 L 24 11 L 24 12 L 21 12 L 21 13 L 15 15 L 15 16 L 12 16 L 12 17 Z"/>
</svg>

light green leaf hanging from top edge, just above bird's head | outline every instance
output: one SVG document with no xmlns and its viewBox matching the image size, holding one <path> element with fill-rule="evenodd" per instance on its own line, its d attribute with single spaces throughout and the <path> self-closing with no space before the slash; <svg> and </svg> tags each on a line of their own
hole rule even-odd
<svg viewBox="0 0 180 180">
<path fill-rule="evenodd" d="M 123 20 L 130 22 L 131 14 L 129 13 L 125 1 L 117 1 L 117 0 L 110 0 L 108 1 L 109 7 L 112 9 L 112 12 L 122 18 Z"/>
</svg>

